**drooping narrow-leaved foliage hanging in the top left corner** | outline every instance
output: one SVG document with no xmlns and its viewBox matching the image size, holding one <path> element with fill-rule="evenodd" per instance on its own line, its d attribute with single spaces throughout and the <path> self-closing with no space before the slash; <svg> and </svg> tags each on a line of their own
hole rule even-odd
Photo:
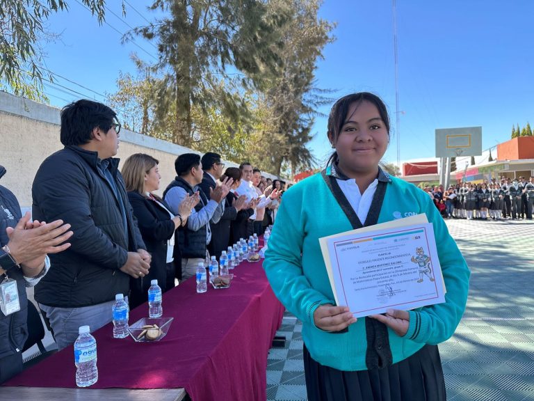
<svg viewBox="0 0 534 401">
<path fill-rule="evenodd" d="M 105 0 L 81 0 L 104 22 Z M 43 66 L 43 38 L 54 38 L 44 22 L 51 13 L 68 10 L 66 0 L 0 0 L 0 89 L 31 100 L 47 100 L 42 81 L 53 77 Z"/>
</svg>

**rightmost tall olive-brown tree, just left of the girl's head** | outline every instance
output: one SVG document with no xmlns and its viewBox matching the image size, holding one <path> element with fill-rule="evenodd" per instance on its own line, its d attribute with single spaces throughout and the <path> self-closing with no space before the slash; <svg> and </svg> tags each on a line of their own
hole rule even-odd
<svg viewBox="0 0 534 401">
<path fill-rule="evenodd" d="M 325 94 L 314 86 L 316 62 L 322 58 L 323 47 L 332 42 L 333 25 L 318 19 L 318 0 L 271 0 L 271 9 L 289 8 L 291 23 L 283 26 L 284 53 L 282 65 L 261 95 L 264 136 L 270 148 L 264 164 L 277 174 L 284 162 L 291 166 L 291 175 L 313 168 L 314 159 L 306 144 L 313 139 L 311 132 L 317 109 L 330 103 Z"/>
</svg>

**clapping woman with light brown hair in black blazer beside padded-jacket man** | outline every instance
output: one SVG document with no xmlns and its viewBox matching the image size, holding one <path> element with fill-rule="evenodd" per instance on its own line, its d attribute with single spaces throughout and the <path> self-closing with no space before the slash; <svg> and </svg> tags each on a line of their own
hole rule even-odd
<svg viewBox="0 0 534 401">
<path fill-rule="evenodd" d="M 131 278 L 130 306 L 143 304 L 148 299 L 150 281 L 157 280 L 161 291 L 165 292 L 175 286 L 174 255 L 175 230 L 186 224 L 191 209 L 197 202 L 195 196 L 187 197 L 179 207 L 176 216 L 170 212 L 170 207 L 152 194 L 159 189 L 158 169 L 159 161 L 143 153 L 131 155 L 122 167 L 122 176 L 128 191 L 128 199 L 137 218 L 137 224 L 147 251 L 152 254 L 152 262 L 148 275 L 141 278 Z"/>
</svg>

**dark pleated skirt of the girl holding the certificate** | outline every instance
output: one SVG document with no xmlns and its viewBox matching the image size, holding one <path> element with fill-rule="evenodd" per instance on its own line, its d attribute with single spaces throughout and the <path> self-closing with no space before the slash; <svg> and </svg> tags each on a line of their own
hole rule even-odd
<svg viewBox="0 0 534 401">
<path fill-rule="evenodd" d="M 304 346 L 309 401 L 445 401 L 437 345 L 425 345 L 387 368 L 345 372 L 321 365 Z"/>
</svg>

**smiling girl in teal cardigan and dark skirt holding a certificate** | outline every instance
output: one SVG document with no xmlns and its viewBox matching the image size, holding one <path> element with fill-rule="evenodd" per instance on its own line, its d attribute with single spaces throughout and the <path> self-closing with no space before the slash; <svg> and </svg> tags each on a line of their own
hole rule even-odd
<svg viewBox="0 0 534 401">
<path fill-rule="evenodd" d="M 303 322 L 309 400 L 446 400 L 437 344 L 451 337 L 467 301 L 469 269 L 427 194 L 378 166 L 389 143 L 385 104 L 371 93 L 338 100 L 328 119 L 335 148 L 325 170 L 284 194 L 264 268 Z M 318 239 L 425 213 L 434 228 L 446 302 L 355 319 L 334 306 Z"/>
</svg>

